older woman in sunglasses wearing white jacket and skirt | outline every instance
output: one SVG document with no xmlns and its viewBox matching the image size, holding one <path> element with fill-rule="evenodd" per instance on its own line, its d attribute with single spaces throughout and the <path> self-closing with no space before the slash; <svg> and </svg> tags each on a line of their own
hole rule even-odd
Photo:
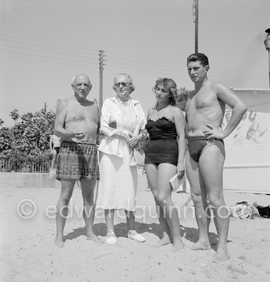
<svg viewBox="0 0 270 282">
<path fill-rule="evenodd" d="M 127 217 L 128 238 L 144 242 L 135 229 L 135 196 L 137 168 L 130 166 L 130 151 L 146 136 L 145 114 L 141 104 L 131 98 L 135 90 L 132 78 L 120 74 L 112 87 L 116 96 L 106 99 L 102 107 L 100 142 L 100 185 L 97 206 L 105 210 L 109 245 L 117 243 L 113 217 L 115 209 L 124 209 Z"/>
</svg>

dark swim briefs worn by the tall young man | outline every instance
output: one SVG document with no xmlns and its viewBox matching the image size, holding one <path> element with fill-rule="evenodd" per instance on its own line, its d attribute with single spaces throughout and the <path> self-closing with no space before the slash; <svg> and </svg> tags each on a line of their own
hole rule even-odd
<svg viewBox="0 0 270 282">
<path fill-rule="evenodd" d="M 208 140 L 206 137 L 188 137 L 188 149 L 190 157 L 195 162 L 199 162 L 204 147 L 208 144 L 214 145 L 216 141 L 220 141 L 224 146 L 223 139 L 210 138 Z"/>
</svg>

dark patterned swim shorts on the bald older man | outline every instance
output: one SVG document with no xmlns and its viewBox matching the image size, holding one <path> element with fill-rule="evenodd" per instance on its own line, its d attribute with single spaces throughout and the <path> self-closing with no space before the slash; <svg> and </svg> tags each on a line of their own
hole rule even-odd
<svg viewBox="0 0 270 282">
<path fill-rule="evenodd" d="M 55 179 L 99 179 L 97 145 L 64 140 Z"/>
</svg>

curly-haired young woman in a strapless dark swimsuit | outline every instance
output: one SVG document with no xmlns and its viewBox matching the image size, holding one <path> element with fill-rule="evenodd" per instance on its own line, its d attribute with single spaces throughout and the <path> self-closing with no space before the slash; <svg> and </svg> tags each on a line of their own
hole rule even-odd
<svg viewBox="0 0 270 282">
<path fill-rule="evenodd" d="M 156 202 L 162 239 L 156 248 L 173 243 L 173 251 L 184 247 L 177 207 L 171 200 L 169 180 L 185 174 L 185 117 L 176 106 L 177 86 L 170 78 L 159 78 L 153 91 L 156 106 L 150 109 L 145 128 L 150 142 L 145 156 L 145 171 Z"/>
</svg>

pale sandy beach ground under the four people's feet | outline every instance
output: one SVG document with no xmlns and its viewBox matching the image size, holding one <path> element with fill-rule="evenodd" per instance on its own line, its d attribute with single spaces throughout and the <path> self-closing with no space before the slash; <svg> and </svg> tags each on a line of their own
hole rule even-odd
<svg viewBox="0 0 270 282">
<path fill-rule="evenodd" d="M 140 208 L 136 212 L 136 231 L 146 238 L 146 242 L 138 243 L 127 238 L 124 211 L 120 211 L 115 217 L 118 238 L 114 246 L 86 240 L 79 188 L 74 190 L 70 216 L 64 229 L 65 246 L 58 248 L 54 246 L 53 210 L 59 189 L 1 187 L 0 281 L 270 281 L 270 219 L 230 218 L 230 259 L 213 263 L 212 256 L 215 255 L 217 245 L 213 220 L 209 234 L 212 249 L 189 250 L 198 239 L 198 229 L 192 207 L 186 213 L 181 208 L 180 224 L 185 248 L 178 253 L 172 252 L 171 244 L 154 249 L 153 246 L 161 236 L 161 229 L 152 193 L 147 191 L 146 179 L 143 177 L 137 190 L 137 205 Z M 181 206 L 188 196 L 173 193 L 173 202 Z M 270 195 L 225 191 L 224 197 L 228 206 L 241 201 L 270 204 Z M 33 211 L 35 213 L 32 216 Z M 105 240 L 106 226 L 102 210 L 98 209 L 96 215 L 95 232 Z"/>
</svg>

